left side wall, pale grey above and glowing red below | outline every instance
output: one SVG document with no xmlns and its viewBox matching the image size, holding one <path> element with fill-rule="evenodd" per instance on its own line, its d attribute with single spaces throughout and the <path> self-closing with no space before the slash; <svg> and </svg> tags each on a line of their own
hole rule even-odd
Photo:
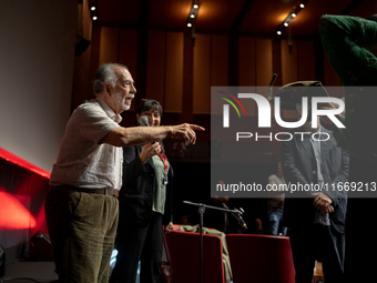
<svg viewBox="0 0 377 283">
<path fill-rule="evenodd" d="M 0 11 L 0 244 L 9 264 L 47 232 L 48 176 L 71 113 L 78 3 L 12 0 Z"/>
</svg>

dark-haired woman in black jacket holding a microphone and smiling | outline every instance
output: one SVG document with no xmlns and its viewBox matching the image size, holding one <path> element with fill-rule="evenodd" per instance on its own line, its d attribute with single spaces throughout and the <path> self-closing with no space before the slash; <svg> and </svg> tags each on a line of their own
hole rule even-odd
<svg viewBox="0 0 377 283">
<path fill-rule="evenodd" d="M 159 127 L 162 107 L 155 100 L 142 100 L 136 125 L 142 117 L 150 127 Z M 143 118 L 143 119 L 145 119 Z M 116 264 L 110 282 L 135 282 L 139 261 L 140 282 L 160 282 L 163 215 L 172 230 L 171 188 L 173 172 L 161 141 L 123 149 L 123 186 L 120 191 L 120 220 Z"/>
</svg>

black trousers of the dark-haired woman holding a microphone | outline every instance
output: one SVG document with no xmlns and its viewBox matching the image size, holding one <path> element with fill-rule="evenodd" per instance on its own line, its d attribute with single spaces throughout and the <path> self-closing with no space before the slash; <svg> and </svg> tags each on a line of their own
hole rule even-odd
<svg viewBox="0 0 377 283">
<path fill-rule="evenodd" d="M 110 283 L 133 283 L 140 266 L 141 283 L 160 282 L 162 261 L 162 214 L 153 212 L 145 228 L 136 228 L 120 221 L 116 239 L 116 263 Z"/>
</svg>

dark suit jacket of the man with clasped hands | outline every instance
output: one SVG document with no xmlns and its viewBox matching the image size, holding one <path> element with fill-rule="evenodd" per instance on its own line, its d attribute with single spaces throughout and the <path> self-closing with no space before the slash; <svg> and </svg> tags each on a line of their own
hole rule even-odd
<svg viewBox="0 0 377 283">
<path fill-rule="evenodd" d="M 347 210 L 345 191 L 333 190 L 332 184 L 347 182 L 349 155 L 337 146 L 333 132 L 322 127 L 322 131 L 329 134 L 328 141 L 320 142 L 320 171 L 328 190 L 323 191 L 333 200 L 334 212 L 329 213 L 330 224 L 340 233 L 344 232 Z M 307 132 L 304 128 L 295 132 Z M 287 184 L 316 184 L 318 182 L 317 162 L 314 155 L 310 135 L 293 134 L 291 141 L 282 142 L 282 168 Z M 313 205 L 315 196 L 310 192 L 286 193 L 284 206 L 284 223 L 294 228 L 313 223 L 316 209 Z"/>
</svg>

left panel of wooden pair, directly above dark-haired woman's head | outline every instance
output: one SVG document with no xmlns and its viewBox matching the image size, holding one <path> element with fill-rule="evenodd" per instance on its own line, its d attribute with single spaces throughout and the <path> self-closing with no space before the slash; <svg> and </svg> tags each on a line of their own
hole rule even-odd
<svg viewBox="0 0 377 283">
<path fill-rule="evenodd" d="M 157 100 L 162 105 L 165 91 L 165 32 L 151 30 L 147 43 L 145 98 Z"/>
</svg>

